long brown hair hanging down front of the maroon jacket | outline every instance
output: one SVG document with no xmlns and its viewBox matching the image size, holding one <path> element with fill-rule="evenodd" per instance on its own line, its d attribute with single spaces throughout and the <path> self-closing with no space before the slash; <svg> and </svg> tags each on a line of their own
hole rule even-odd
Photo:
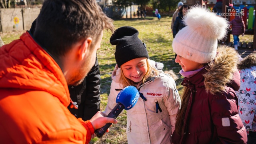
<svg viewBox="0 0 256 144">
<path fill-rule="evenodd" d="M 181 98 L 181 107 L 180 111 L 178 112 L 176 116 L 176 124 L 175 124 L 175 131 L 177 134 L 181 136 L 182 134 L 182 128 L 184 125 L 184 119 L 185 119 L 185 113 L 188 108 L 188 101 L 190 98 L 190 89 L 186 86 L 184 86 L 182 98 Z"/>
</svg>

